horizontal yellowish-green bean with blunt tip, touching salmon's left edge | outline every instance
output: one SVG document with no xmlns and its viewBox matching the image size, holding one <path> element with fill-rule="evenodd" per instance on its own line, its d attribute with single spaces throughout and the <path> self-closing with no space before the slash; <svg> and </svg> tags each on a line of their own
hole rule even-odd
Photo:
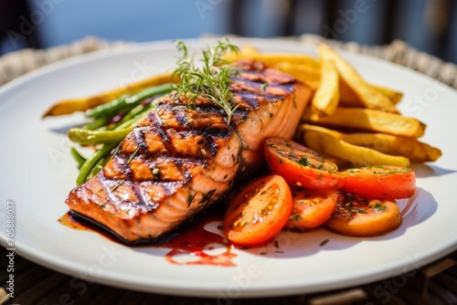
<svg viewBox="0 0 457 305">
<path fill-rule="evenodd" d="M 71 128 L 67 135 L 69 140 L 82 145 L 96 145 L 121 142 L 132 128 L 116 129 L 114 131 L 90 131 L 82 128 Z"/>
</svg>

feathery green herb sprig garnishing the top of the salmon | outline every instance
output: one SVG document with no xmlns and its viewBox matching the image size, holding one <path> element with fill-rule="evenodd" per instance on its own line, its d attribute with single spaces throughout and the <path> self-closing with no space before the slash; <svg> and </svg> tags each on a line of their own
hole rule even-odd
<svg viewBox="0 0 457 305">
<path fill-rule="evenodd" d="M 216 47 L 202 50 L 203 65 L 197 67 L 194 54 L 190 54 L 183 41 L 177 41 L 177 49 L 181 56 L 176 61 L 172 75 L 181 79 L 172 89 L 176 97 L 185 96 L 189 100 L 188 107 L 195 107 L 195 100 L 203 96 L 211 100 L 227 113 L 227 122 L 231 121 L 233 112 L 238 108 L 230 92 L 230 77 L 238 73 L 238 69 L 228 66 L 224 54 L 230 50 L 239 52 L 239 48 L 230 44 L 228 39 L 219 40 Z"/>
</svg>

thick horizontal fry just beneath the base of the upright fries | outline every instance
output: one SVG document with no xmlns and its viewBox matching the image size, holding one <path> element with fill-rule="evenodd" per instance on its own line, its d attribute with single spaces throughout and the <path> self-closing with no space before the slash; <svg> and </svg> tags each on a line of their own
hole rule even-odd
<svg viewBox="0 0 457 305">
<path fill-rule="evenodd" d="M 413 138 L 420 138 L 426 128 L 424 123 L 415 118 L 363 108 L 338 107 L 331 116 L 319 118 L 308 107 L 303 111 L 302 119 L 325 127 L 383 132 Z"/>
</svg>

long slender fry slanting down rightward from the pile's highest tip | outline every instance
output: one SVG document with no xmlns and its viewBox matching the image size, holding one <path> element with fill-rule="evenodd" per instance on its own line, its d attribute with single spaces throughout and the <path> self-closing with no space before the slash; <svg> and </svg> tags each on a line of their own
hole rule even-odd
<svg viewBox="0 0 457 305">
<path fill-rule="evenodd" d="M 340 77 L 354 90 L 359 100 L 364 103 L 367 109 L 399 113 L 395 104 L 389 100 L 388 97 L 368 84 L 367 81 L 358 74 L 356 69 L 349 65 L 349 63 L 336 53 L 333 48 L 322 44 L 320 49 L 325 53 L 325 57 L 334 58 L 335 66 L 338 69 Z"/>
</svg>

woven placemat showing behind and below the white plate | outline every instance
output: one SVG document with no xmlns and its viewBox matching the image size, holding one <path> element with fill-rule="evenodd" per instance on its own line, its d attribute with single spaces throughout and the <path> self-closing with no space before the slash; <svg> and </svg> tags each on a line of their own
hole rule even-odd
<svg viewBox="0 0 457 305">
<path fill-rule="evenodd" d="M 415 69 L 457 89 L 457 66 L 409 47 L 403 41 L 395 40 L 387 46 L 372 47 L 314 35 L 292 39 L 311 45 L 324 40 L 349 52 L 383 58 Z M 87 37 L 68 46 L 20 50 L 0 58 L 0 85 L 64 58 L 129 44 Z M 407 274 L 359 287 L 250 300 L 187 298 L 116 289 L 71 278 L 18 256 L 15 256 L 15 298 L 11 299 L 7 296 L 7 259 L 4 259 L 7 253 L 4 247 L 0 247 L 0 304 L 457 304 L 457 252 Z"/>
</svg>

